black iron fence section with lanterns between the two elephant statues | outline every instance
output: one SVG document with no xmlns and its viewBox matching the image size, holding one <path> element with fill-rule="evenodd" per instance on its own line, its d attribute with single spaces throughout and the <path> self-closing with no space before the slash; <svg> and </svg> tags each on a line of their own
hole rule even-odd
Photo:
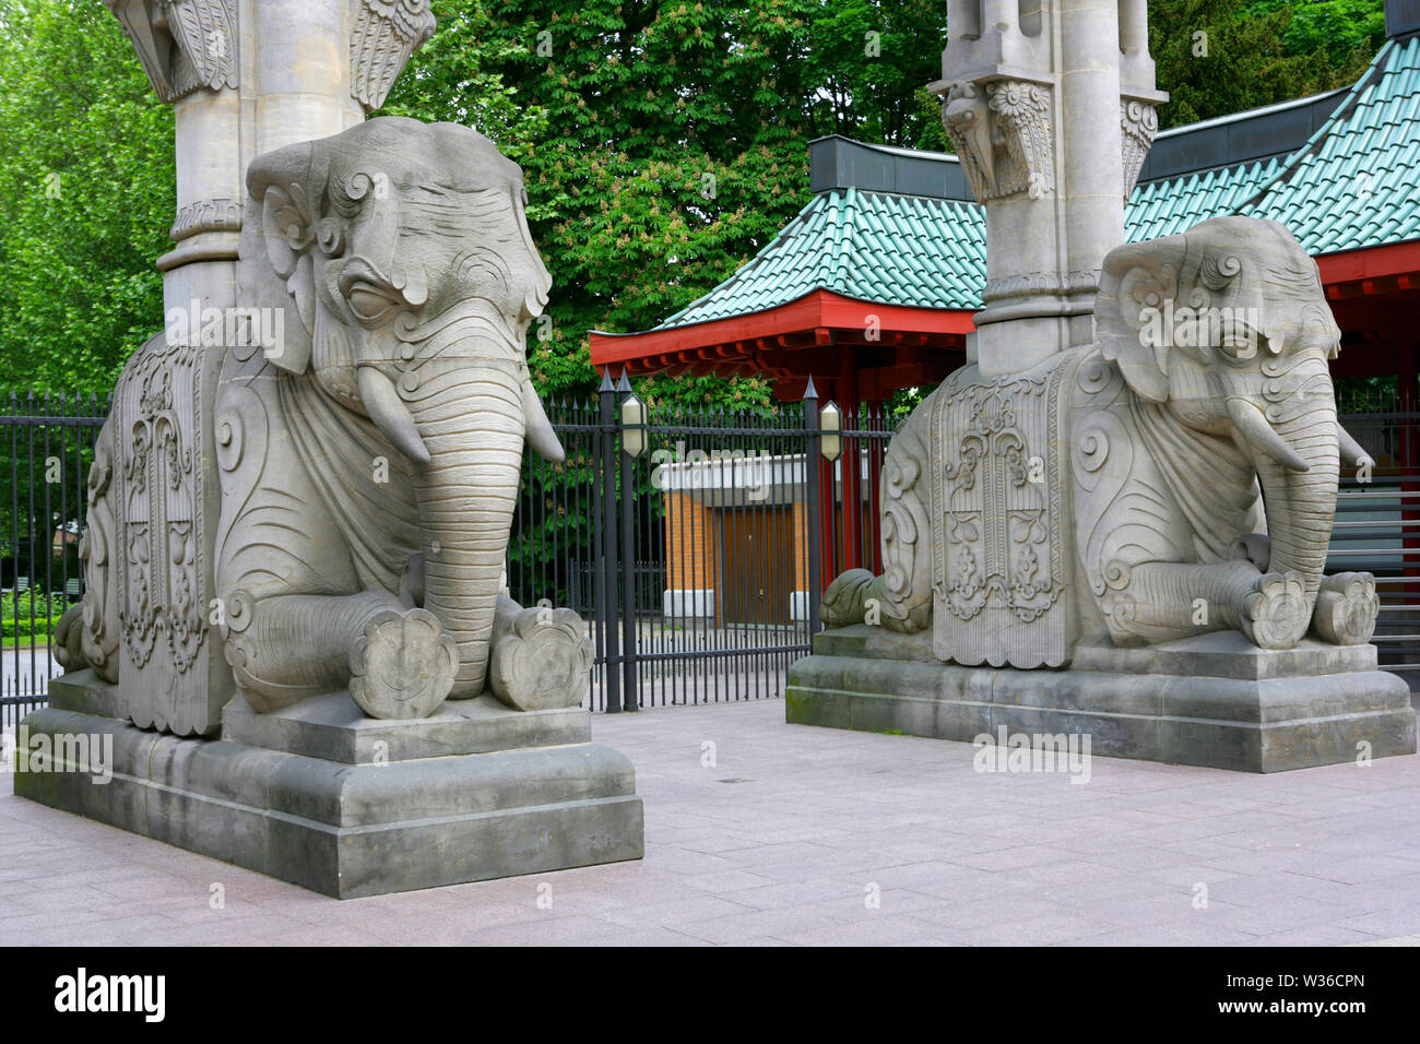
<svg viewBox="0 0 1420 1044">
<path fill-rule="evenodd" d="M 568 460 L 530 462 L 508 585 L 524 604 L 571 595 L 588 616 L 591 706 L 781 695 L 825 580 L 876 547 L 863 490 L 890 432 L 879 412 L 821 405 L 811 386 L 770 410 L 692 410 L 642 402 L 622 378 L 554 410 Z"/>
</svg>

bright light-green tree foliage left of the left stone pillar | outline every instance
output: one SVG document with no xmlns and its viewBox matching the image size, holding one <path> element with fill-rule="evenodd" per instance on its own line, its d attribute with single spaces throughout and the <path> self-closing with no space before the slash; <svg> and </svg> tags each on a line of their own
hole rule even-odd
<svg viewBox="0 0 1420 1044">
<path fill-rule="evenodd" d="M 0 384 L 106 392 L 162 328 L 173 115 L 94 0 L 0 0 Z"/>
</svg>

